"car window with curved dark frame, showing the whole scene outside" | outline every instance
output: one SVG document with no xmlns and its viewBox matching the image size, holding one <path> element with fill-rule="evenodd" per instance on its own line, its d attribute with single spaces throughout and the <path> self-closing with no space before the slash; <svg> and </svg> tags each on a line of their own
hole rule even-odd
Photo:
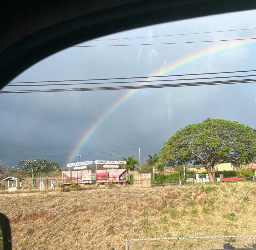
<svg viewBox="0 0 256 250">
<path fill-rule="evenodd" d="M 255 14 L 97 38 L 5 86 L 0 210 L 13 248 L 252 247 Z"/>
</svg>

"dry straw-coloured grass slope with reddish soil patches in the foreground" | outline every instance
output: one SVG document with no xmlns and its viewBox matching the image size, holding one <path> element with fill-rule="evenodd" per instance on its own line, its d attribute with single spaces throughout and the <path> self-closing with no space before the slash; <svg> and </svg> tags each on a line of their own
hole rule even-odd
<svg viewBox="0 0 256 250">
<path fill-rule="evenodd" d="M 125 249 L 124 238 L 256 234 L 256 182 L 0 195 L 13 249 Z M 212 249 L 251 239 L 133 242 L 131 249 Z"/>
</svg>

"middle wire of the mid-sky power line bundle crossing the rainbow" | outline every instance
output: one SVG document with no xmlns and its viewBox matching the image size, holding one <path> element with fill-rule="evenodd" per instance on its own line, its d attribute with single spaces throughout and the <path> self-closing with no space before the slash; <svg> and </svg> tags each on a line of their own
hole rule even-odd
<svg viewBox="0 0 256 250">
<path fill-rule="evenodd" d="M 184 78 L 184 79 L 167 79 L 167 80 L 144 80 L 144 81 L 126 81 L 126 82 L 86 82 L 86 83 L 55 83 L 55 84 L 17 84 L 6 85 L 6 87 L 15 86 L 63 86 L 63 85 L 85 85 L 85 84 L 112 84 L 112 83 L 135 83 L 135 82 L 165 82 L 165 81 L 185 81 L 185 80 L 203 80 L 203 79 L 218 79 L 218 78 L 235 78 L 235 77 L 255 77 L 256 75 L 241 75 L 228 77 L 203 77 L 203 78 Z"/>
</svg>

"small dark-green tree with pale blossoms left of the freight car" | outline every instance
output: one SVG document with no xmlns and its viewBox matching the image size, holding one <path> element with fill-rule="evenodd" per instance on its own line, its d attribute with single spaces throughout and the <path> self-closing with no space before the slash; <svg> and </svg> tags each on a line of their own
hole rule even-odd
<svg viewBox="0 0 256 250">
<path fill-rule="evenodd" d="M 42 160 L 41 158 L 32 160 L 20 160 L 15 164 L 18 170 L 22 170 L 22 175 L 29 175 L 32 178 L 34 187 L 36 186 L 36 177 L 42 173 L 51 173 L 59 170 L 59 164 L 54 161 Z M 33 172 L 32 172 L 33 168 Z"/>
</svg>

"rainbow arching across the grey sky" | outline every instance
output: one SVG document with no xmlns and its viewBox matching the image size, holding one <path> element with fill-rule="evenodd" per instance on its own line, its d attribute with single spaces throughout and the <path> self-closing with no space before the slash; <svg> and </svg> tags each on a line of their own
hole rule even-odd
<svg viewBox="0 0 256 250">
<path fill-rule="evenodd" d="M 209 55 L 213 55 L 228 49 L 233 49 L 236 47 L 241 46 L 248 46 L 248 45 L 255 45 L 256 41 L 254 40 L 243 40 L 243 41 L 237 41 L 237 42 L 228 42 L 228 44 L 222 44 L 222 46 L 218 47 L 210 47 L 208 49 L 203 49 L 197 53 L 190 54 L 185 56 L 184 58 L 181 58 L 174 63 L 171 63 L 165 67 L 162 67 L 157 72 L 152 73 L 154 76 L 160 76 L 164 75 L 166 73 L 169 73 L 170 71 L 174 71 L 180 67 L 183 67 L 184 65 L 187 65 L 188 63 L 192 63 L 196 60 L 199 60 L 201 58 L 204 58 Z M 154 78 L 148 78 L 148 80 L 153 80 Z M 147 85 L 150 84 L 150 82 L 143 82 L 140 85 Z M 100 125 L 113 113 L 115 112 L 124 102 L 129 100 L 132 96 L 137 94 L 142 89 L 133 89 L 126 91 L 123 95 L 121 95 L 112 105 L 110 105 L 104 113 L 99 117 L 98 120 L 96 120 L 89 129 L 86 129 L 86 131 L 83 133 L 83 135 L 80 137 L 79 141 L 77 142 L 76 146 L 73 148 L 71 156 L 68 158 L 68 163 L 72 162 L 72 160 L 75 160 L 76 154 L 79 154 L 79 151 L 82 149 L 84 144 L 88 142 L 88 140 L 92 137 L 92 135 L 97 131 L 97 129 L 100 127 Z"/>
</svg>

